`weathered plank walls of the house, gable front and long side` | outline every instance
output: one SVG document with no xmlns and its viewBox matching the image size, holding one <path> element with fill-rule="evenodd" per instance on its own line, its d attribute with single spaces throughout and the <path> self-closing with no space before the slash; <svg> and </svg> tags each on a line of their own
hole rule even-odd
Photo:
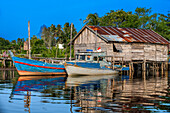
<svg viewBox="0 0 170 113">
<path fill-rule="evenodd" d="M 113 44 L 118 52 L 114 52 Z M 74 52 L 86 51 L 86 49 L 97 50 L 101 47 L 108 56 L 115 56 L 115 60 L 150 60 L 167 61 L 168 47 L 162 44 L 150 43 L 106 43 L 102 39 L 85 28 L 78 38 L 74 41 Z"/>
</svg>

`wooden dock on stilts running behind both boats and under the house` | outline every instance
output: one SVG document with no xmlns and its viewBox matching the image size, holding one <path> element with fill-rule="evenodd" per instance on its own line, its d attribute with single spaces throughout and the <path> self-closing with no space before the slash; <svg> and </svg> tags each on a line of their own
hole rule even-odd
<svg viewBox="0 0 170 113">
<path fill-rule="evenodd" d="M 125 60 L 124 57 L 118 56 L 106 56 L 108 59 L 111 59 L 111 68 L 113 70 L 118 70 L 122 75 L 129 75 L 133 77 L 134 74 L 139 72 L 149 72 L 150 70 L 154 72 L 161 71 L 162 75 L 168 71 L 168 65 L 170 62 L 167 61 L 152 61 L 152 60 Z M 24 57 L 28 58 L 28 57 Z M 47 58 L 47 57 L 32 57 L 34 60 L 43 61 L 47 63 L 62 63 L 68 61 L 68 58 Z M 74 58 L 72 58 L 74 60 Z M 13 69 L 15 70 L 14 63 L 11 58 L 0 58 L 1 67 L 6 70 Z M 2 70 L 2 69 L 1 69 Z"/>
</svg>

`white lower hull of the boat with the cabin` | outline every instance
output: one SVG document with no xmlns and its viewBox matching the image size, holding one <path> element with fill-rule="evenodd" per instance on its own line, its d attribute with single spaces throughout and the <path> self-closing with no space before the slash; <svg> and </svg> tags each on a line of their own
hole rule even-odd
<svg viewBox="0 0 170 113">
<path fill-rule="evenodd" d="M 118 73 L 115 70 L 111 69 L 102 69 L 102 68 L 83 68 L 73 65 L 65 66 L 67 74 L 69 76 L 80 76 L 80 75 L 112 75 Z"/>
</svg>

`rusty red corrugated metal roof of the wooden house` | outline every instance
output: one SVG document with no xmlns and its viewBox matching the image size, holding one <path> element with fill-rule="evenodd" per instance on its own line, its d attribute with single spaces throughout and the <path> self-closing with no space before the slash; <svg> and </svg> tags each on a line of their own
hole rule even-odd
<svg viewBox="0 0 170 113">
<path fill-rule="evenodd" d="M 88 28 L 90 31 L 92 31 L 94 34 L 106 42 L 145 42 L 160 44 L 170 43 L 164 37 L 150 29 L 117 28 L 111 26 L 106 27 L 91 25 L 85 25 L 73 38 L 73 41 L 85 28 Z"/>
</svg>

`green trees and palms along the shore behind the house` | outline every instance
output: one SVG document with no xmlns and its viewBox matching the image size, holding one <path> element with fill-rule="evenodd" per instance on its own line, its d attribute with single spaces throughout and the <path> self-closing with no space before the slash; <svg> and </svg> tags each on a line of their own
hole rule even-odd
<svg viewBox="0 0 170 113">
<path fill-rule="evenodd" d="M 152 9 L 136 8 L 135 12 L 122 10 L 111 10 L 104 16 L 99 17 L 97 13 L 89 14 L 83 20 L 84 24 L 96 26 L 113 26 L 122 28 L 152 29 L 167 40 L 170 40 L 170 13 L 167 15 L 153 13 Z M 39 35 L 31 37 L 31 53 L 40 57 L 69 57 L 71 24 L 66 22 L 64 26 L 51 24 L 50 27 L 42 25 Z M 73 24 L 72 37 L 77 34 Z M 15 54 L 26 54 L 24 42 L 26 37 L 9 41 L 0 37 L 0 57 L 6 50 L 13 50 Z M 64 49 L 59 49 L 63 44 Z M 74 50 L 72 49 L 72 53 Z M 72 54 L 74 55 L 74 54 Z M 74 56 L 72 56 L 74 57 Z M 1 65 L 1 64 L 0 64 Z"/>
</svg>

